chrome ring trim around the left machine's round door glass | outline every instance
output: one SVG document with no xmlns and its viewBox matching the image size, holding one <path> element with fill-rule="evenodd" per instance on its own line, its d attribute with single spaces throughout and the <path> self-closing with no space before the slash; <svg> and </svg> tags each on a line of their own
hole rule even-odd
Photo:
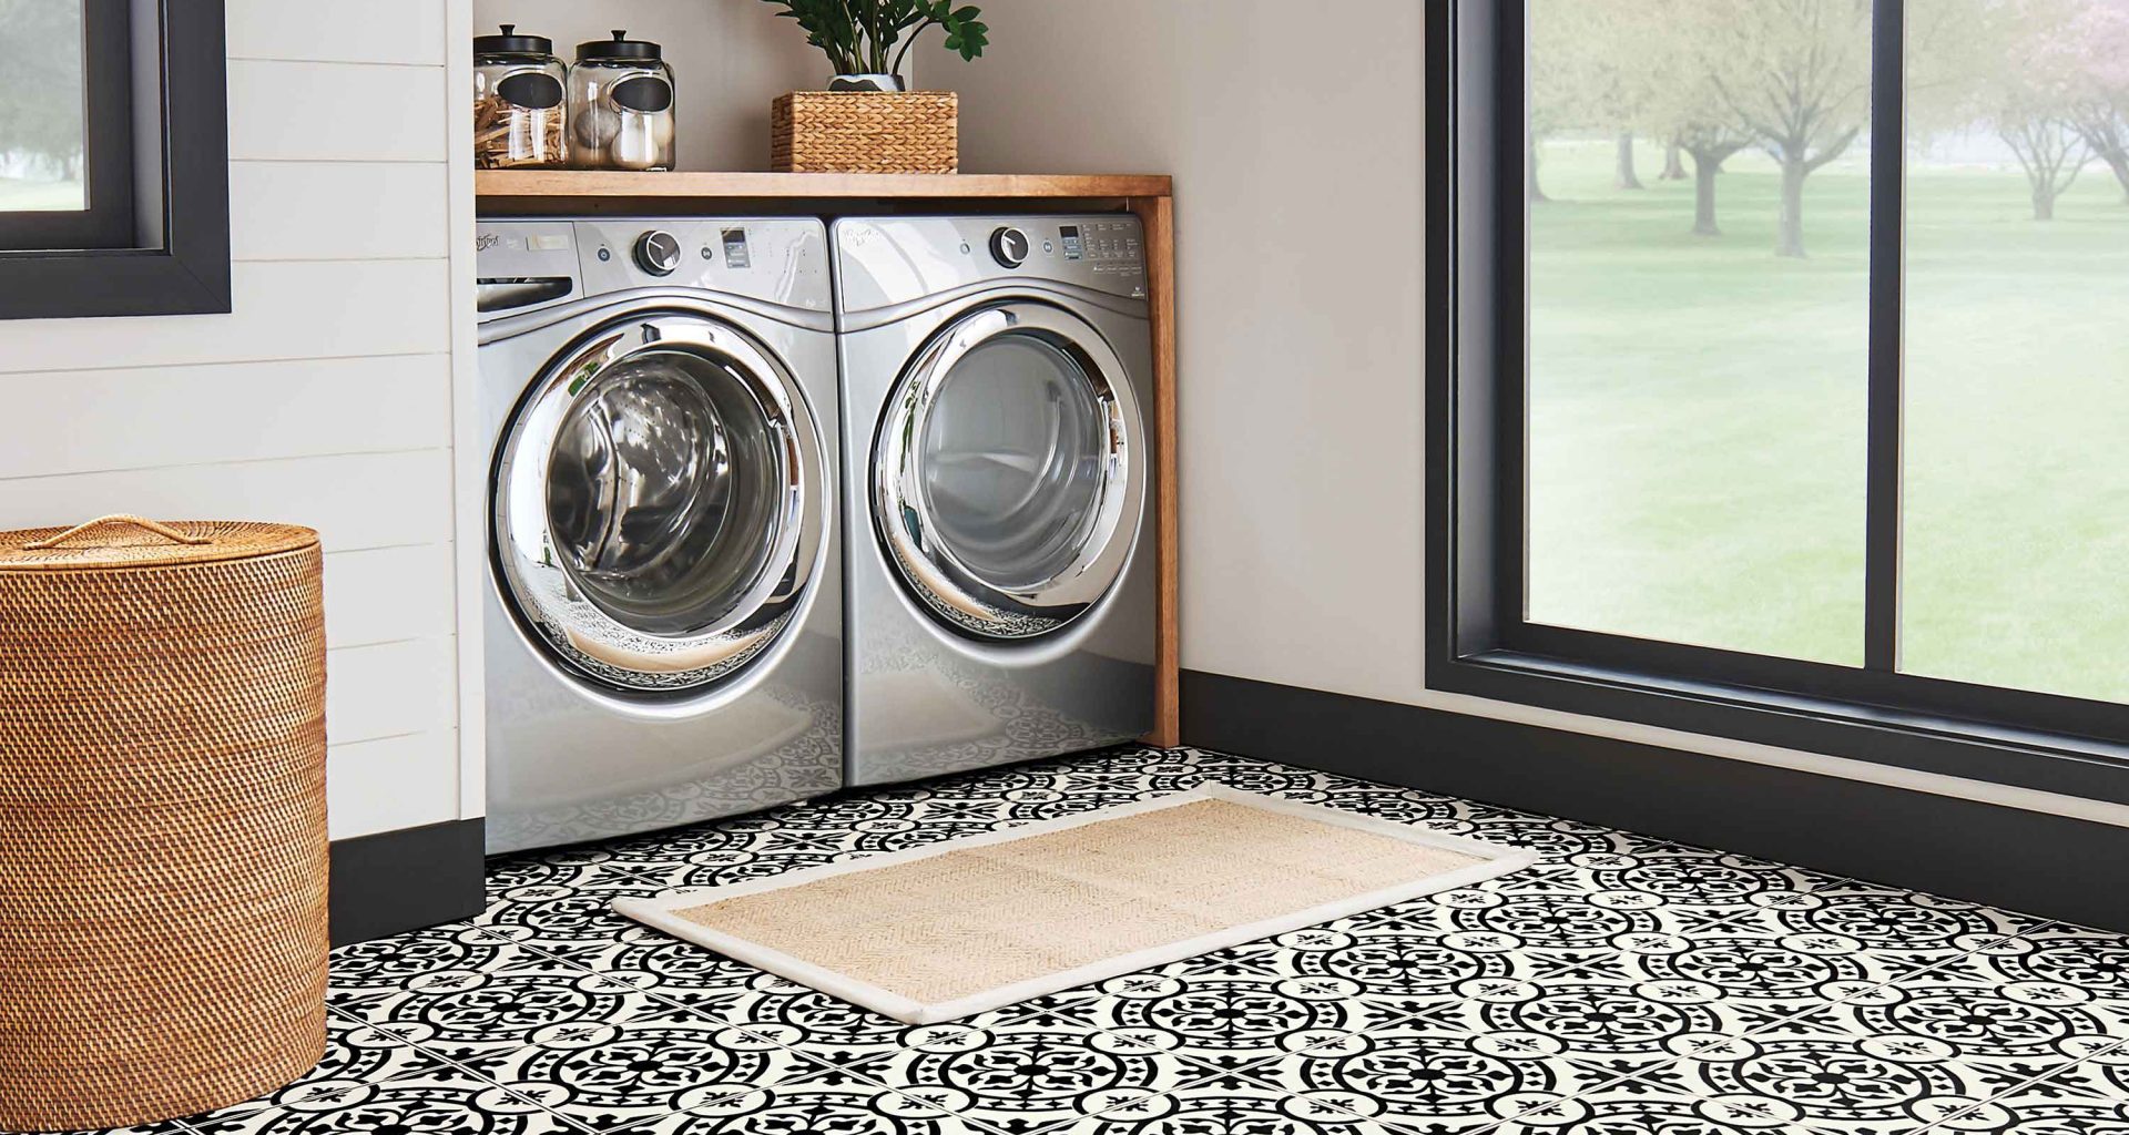
<svg viewBox="0 0 2129 1135">
<path fill-rule="evenodd" d="M 745 381 L 777 439 L 783 507 L 766 566 L 741 601 L 688 635 L 647 635 L 598 609 L 562 566 L 547 528 L 547 468 L 577 394 L 645 349 L 724 364 Z M 828 528 L 828 466 L 796 377 L 739 328 L 703 311 L 630 311 L 556 356 L 496 447 L 490 543 L 498 590 L 519 624 L 571 669 L 634 692 L 681 692 L 741 669 L 790 622 Z"/>
</svg>

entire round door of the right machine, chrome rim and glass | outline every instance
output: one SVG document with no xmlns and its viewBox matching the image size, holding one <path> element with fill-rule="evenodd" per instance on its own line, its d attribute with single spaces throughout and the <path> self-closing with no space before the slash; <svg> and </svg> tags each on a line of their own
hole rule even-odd
<svg viewBox="0 0 2129 1135">
<path fill-rule="evenodd" d="M 1062 628 L 1124 573 L 1148 451 L 1124 364 L 1069 311 L 979 307 L 888 396 L 881 543 L 911 594 L 981 639 Z"/>
</svg>

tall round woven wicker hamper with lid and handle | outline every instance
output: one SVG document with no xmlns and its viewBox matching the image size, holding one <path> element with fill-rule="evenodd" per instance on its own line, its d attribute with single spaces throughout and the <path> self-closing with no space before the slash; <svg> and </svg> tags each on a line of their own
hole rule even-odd
<svg viewBox="0 0 2129 1135">
<path fill-rule="evenodd" d="M 317 532 L 0 532 L 0 1129 L 258 1097 L 326 1048 Z"/>
</svg>

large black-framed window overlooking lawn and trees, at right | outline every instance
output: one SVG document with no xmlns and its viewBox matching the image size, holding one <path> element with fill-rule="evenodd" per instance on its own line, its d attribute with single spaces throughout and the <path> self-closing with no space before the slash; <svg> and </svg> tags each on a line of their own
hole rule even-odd
<svg viewBox="0 0 2129 1135">
<path fill-rule="evenodd" d="M 1429 681 L 2129 801 L 2129 0 L 1429 11 Z"/>
</svg>

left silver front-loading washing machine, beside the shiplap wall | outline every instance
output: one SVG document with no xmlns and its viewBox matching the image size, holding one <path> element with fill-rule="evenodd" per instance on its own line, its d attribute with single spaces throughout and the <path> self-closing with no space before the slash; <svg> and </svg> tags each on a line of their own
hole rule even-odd
<svg viewBox="0 0 2129 1135">
<path fill-rule="evenodd" d="M 481 221 L 477 273 L 488 850 L 835 790 L 826 226 Z"/>
</svg>

